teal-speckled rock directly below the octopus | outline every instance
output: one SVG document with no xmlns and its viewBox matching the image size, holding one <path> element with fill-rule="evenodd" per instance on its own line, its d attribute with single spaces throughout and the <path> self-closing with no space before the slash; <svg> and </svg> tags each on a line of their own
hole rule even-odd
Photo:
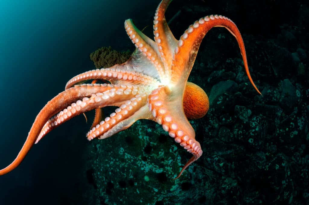
<svg viewBox="0 0 309 205">
<path fill-rule="evenodd" d="M 202 195 L 194 189 L 197 185 L 193 181 L 201 180 L 203 167 L 190 166 L 181 180 L 171 180 L 186 163 L 187 158 L 180 157 L 180 153 L 186 152 L 173 143 L 158 124 L 137 121 L 104 143 L 96 141 L 89 149 L 94 158 L 91 166 L 95 170 L 94 198 L 98 204 L 177 204 L 188 200 L 186 195 Z M 193 170 L 194 179 L 191 178 Z M 149 197 L 149 193 L 160 194 Z M 183 193 L 183 197 L 175 198 L 179 193 Z M 200 197 L 195 200 L 198 202 Z"/>
</svg>

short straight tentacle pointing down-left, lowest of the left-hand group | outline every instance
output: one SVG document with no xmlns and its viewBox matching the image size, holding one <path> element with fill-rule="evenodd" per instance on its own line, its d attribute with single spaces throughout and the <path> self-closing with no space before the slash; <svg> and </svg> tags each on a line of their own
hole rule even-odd
<svg viewBox="0 0 309 205">
<path fill-rule="evenodd" d="M 105 139 L 128 128 L 128 126 L 124 126 L 122 121 L 136 113 L 143 105 L 145 105 L 146 99 L 147 96 L 143 93 L 142 95 L 138 94 L 130 100 L 125 101 L 120 108 L 115 110 L 115 113 L 112 113 L 110 117 L 106 117 L 105 120 L 93 127 L 87 133 L 87 139 L 89 141 L 97 137 L 99 137 L 99 139 Z"/>
</svg>

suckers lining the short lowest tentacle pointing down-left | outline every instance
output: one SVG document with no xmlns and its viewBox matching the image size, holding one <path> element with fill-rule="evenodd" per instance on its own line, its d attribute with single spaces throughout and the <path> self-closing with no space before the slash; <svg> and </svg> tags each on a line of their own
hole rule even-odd
<svg viewBox="0 0 309 205">
<path fill-rule="evenodd" d="M 130 100 L 125 101 L 125 103 L 117 108 L 114 113 L 110 114 L 109 117 L 106 117 L 103 121 L 93 127 L 87 133 L 87 139 L 90 141 L 94 138 L 102 137 L 103 134 L 112 129 L 113 126 L 131 116 L 141 107 L 142 99 L 145 99 L 146 96 L 145 93 L 138 94 Z"/>
</svg>

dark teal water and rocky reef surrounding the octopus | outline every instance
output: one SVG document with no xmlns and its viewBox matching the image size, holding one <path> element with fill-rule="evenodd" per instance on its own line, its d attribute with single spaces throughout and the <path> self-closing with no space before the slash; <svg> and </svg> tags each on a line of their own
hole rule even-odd
<svg viewBox="0 0 309 205">
<path fill-rule="evenodd" d="M 18 154 L 40 109 L 71 77 L 94 69 L 101 47 L 133 52 L 125 19 L 152 37 L 159 1 L 0 1 L 0 168 Z M 0 176 L 0 205 L 309 204 L 309 3 L 174 0 L 166 18 L 179 39 L 195 20 L 230 18 L 242 34 L 249 83 L 236 39 L 206 34 L 189 81 L 210 110 L 190 121 L 204 151 L 191 157 L 153 121 L 88 142 L 78 116 L 33 146 Z"/>
</svg>

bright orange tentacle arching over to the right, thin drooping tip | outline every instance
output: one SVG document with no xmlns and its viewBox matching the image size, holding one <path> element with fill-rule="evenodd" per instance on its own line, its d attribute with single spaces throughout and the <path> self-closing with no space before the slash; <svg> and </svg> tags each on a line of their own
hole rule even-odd
<svg viewBox="0 0 309 205">
<path fill-rule="evenodd" d="M 229 18 L 221 15 L 210 15 L 205 18 L 200 18 L 198 21 L 194 22 L 193 25 L 189 26 L 189 28 L 180 37 L 177 47 L 175 48 L 174 58 L 172 60 L 171 83 L 175 85 L 182 84 L 181 87 L 184 86 L 184 82 L 188 80 L 188 76 L 193 67 L 201 41 L 206 33 L 213 27 L 225 27 L 232 33 L 232 35 L 235 36 L 241 55 L 243 56 L 243 64 L 247 76 L 256 91 L 261 94 L 250 76 L 245 46 L 238 28 Z M 177 85 L 176 87 L 178 87 Z"/>
</svg>

